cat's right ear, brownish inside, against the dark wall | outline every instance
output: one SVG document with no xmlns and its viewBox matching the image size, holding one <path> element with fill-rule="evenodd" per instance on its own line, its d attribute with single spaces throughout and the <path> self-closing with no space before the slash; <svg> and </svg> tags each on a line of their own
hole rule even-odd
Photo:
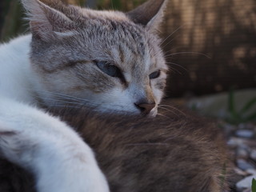
<svg viewBox="0 0 256 192">
<path fill-rule="evenodd" d="M 158 30 L 164 16 L 167 0 L 149 0 L 126 13 L 128 18 L 149 30 Z"/>
</svg>

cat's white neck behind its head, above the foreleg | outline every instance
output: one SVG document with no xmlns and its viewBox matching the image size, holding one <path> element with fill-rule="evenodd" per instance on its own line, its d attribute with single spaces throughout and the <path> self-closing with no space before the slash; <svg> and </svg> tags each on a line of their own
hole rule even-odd
<svg viewBox="0 0 256 192">
<path fill-rule="evenodd" d="M 31 35 L 0 45 L 0 94 L 20 102 L 33 103 L 33 74 L 30 70 Z"/>
</svg>

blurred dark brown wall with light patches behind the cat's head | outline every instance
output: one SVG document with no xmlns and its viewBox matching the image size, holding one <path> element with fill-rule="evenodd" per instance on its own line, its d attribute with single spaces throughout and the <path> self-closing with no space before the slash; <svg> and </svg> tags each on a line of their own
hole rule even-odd
<svg viewBox="0 0 256 192">
<path fill-rule="evenodd" d="M 145 2 L 65 1 L 100 10 L 131 10 Z M 26 30 L 23 15 L 18 0 L 0 1 L 1 40 Z M 168 96 L 256 87 L 255 0 L 169 0 L 162 38 L 170 66 Z"/>
</svg>

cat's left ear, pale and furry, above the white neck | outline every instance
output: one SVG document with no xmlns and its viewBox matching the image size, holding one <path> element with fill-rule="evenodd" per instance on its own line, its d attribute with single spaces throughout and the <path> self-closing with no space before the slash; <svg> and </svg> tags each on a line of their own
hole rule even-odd
<svg viewBox="0 0 256 192">
<path fill-rule="evenodd" d="M 33 36 L 42 41 L 50 42 L 57 36 L 70 34 L 74 23 L 65 14 L 48 6 L 45 2 L 22 0 L 27 18 L 30 20 L 30 30 Z M 56 1 L 56 3 L 59 6 L 64 6 L 61 2 Z"/>
</svg>

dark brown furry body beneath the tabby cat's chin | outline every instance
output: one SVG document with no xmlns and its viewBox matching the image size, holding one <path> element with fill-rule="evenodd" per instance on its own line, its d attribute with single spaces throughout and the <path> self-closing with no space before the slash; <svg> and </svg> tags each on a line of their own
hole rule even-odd
<svg viewBox="0 0 256 192">
<path fill-rule="evenodd" d="M 75 108 L 52 113 L 94 149 L 111 192 L 228 191 L 226 145 L 209 119 L 184 111 L 161 111 L 164 116 L 156 118 Z M 0 166 L 5 166 L 0 170 L 2 192 L 34 192 L 30 174 L 4 160 Z"/>
</svg>

